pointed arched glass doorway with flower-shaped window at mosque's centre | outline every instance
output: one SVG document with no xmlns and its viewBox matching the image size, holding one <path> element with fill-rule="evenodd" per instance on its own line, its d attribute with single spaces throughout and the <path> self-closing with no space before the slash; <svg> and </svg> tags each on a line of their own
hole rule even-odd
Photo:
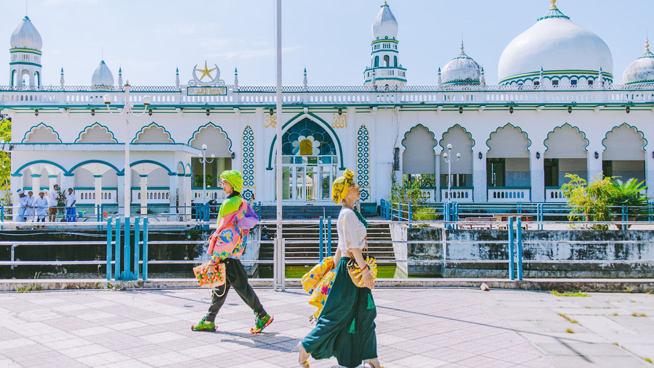
<svg viewBox="0 0 654 368">
<path fill-rule="evenodd" d="M 282 136 L 282 199 L 329 201 L 338 158 L 332 136 L 305 118 Z"/>
</svg>

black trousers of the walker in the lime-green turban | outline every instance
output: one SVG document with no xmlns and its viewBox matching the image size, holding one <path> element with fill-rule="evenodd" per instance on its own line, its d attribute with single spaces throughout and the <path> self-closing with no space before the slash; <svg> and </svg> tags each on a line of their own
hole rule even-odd
<svg viewBox="0 0 654 368">
<path fill-rule="evenodd" d="M 256 293 L 254 293 L 254 289 L 252 289 L 252 286 L 247 282 L 247 272 L 245 272 L 245 268 L 243 268 L 241 261 L 228 258 L 223 262 L 225 263 L 225 284 L 213 289 L 214 292 L 211 297 L 211 305 L 209 306 L 207 316 L 205 316 L 205 321 L 214 322 L 218 310 L 220 310 L 222 304 L 225 303 L 225 299 L 227 299 L 227 292 L 230 291 L 230 287 L 234 288 L 234 291 L 236 291 L 239 297 L 241 297 L 245 304 L 248 304 L 248 306 L 250 306 L 258 316 L 266 316 L 264 306 L 261 305 L 259 298 L 256 296 Z"/>
</svg>

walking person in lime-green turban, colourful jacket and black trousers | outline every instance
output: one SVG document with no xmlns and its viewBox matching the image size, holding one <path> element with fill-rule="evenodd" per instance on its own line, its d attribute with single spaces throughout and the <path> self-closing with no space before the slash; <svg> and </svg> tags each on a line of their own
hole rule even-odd
<svg viewBox="0 0 654 368">
<path fill-rule="evenodd" d="M 254 311 L 254 327 L 250 329 L 250 333 L 260 333 L 273 322 L 273 316 L 266 313 L 252 286 L 248 284 L 247 272 L 239 260 L 245 250 L 249 229 L 254 227 L 259 219 L 247 202 L 241 198 L 243 178 L 240 172 L 235 170 L 222 172 L 220 186 L 228 196 L 220 205 L 216 232 L 209 238 L 209 254 L 211 263 L 222 262 L 225 264 L 225 284 L 213 290 L 209 312 L 197 325 L 191 326 L 191 329 L 193 331 L 216 331 L 214 323 L 216 314 L 225 303 L 227 292 L 231 286 L 245 304 Z"/>
</svg>

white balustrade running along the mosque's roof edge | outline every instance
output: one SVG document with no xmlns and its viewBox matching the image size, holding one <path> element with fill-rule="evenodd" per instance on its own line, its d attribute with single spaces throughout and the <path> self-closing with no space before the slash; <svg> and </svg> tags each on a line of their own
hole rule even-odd
<svg viewBox="0 0 654 368">
<path fill-rule="evenodd" d="M 186 86 L 132 86 L 130 100 L 139 105 L 144 96 L 152 98 L 152 107 L 180 105 L 263 105 L 276 102 L 273 86 L 226 86 L 224 96 L 188 96 Z M 104 107 L 104 96 L 112 97 L 112 104 L 124 101 L 122 88 L 92 89 L 89 86 L 43 86 L 15 88 L 0 86 L 0 105 L 97 105 Z M 401 103 L 403 105 L 506 105 L 598 104 L 621 103 L 636 105 L 654 102 L 654 88 L 647 85 L 604 86 L 284 86 L 283 103 L 336 105 L 370 105 L 371 103 Z"/>
</svg>

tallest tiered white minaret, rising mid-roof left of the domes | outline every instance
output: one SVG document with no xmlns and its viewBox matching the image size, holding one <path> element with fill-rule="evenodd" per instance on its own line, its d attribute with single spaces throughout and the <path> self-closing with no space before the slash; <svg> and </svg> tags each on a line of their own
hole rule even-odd
<svg viewBox="0 0 654 368">
<path fill-rule="evenodd" d="M 384 1 L 372 23 L 370 67 L 364 71 L 366 86 L 373 85 L 373 71 L 378 86 L 403 86 L 407 83 L 406 69 L 400 64 L 397 37 L 398 21 Z"/>
</svg>

